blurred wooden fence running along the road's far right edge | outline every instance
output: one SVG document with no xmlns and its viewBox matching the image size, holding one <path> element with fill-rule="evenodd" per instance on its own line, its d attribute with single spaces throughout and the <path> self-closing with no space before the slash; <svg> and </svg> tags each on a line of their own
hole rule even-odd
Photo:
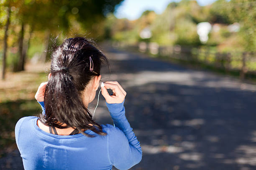
<svg viewBox="0 0 256 170">
<path fill-rule="evenodd" d="M 115 45 L 117 46 L 117 45 Z M 128 47 L 140 52 L 148 52 L 153 56 L 165 56 L 175 60 L 183 60 L 193 63 L 201 63 L 225 72 L 238 72 L 241 79 L 246 75 L 256 77 L 256 52 L 216 52 L 210 48 L 159 46 L 156 43 L 141 42 L 138 45 L 118 46 Z"/>
</svg>

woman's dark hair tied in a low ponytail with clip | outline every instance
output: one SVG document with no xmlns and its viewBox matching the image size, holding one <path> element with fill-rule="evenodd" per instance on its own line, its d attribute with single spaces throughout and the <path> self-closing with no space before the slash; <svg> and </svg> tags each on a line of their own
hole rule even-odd
<svg viewBox="0 0 256 170">
<path fill-rule="evenodd" d="M 54 48 L 51 78 L 44 95 L 45 115 L 38 116 L 44 125 L 61 129 L 76 127 L 88 137 L 94 135 L 84 133 L 82 129 L 106 135 L 82 102 L 82 92 L 94 76 L 100 75 L 102 62 L 106 61 L 109 68 L 107 57 L 92 44 L 93 41 L 84 37 L 75 37 Z M 93 71 L 90 71 L 90 57 Z M 63 123 L 67 126 L 61 126 Z"/>
</svg>

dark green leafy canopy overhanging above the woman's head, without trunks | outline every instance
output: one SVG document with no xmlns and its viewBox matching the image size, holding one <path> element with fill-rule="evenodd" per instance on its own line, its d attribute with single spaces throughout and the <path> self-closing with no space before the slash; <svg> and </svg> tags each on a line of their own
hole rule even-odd
<svg viewBox="0 0 256 170">
<path fill-rule="evenodd" d="M 7 6 L 11 6 L 11 29 L 18 30 L 20 23 L 33 31 L 50 31 L 57 35 L 72 30 L 87 30 L 95 37 L 102 34 L 101 25 L 108 13 L 123 0 L 3 0 L 0 3 L 0 37 L 6 20 Z M 96 28 L 96 29 L 95 29 Z"/>
</svg>

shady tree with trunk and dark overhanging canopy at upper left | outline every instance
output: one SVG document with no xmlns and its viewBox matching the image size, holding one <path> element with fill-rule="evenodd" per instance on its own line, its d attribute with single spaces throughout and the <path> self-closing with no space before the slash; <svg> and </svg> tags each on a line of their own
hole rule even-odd
<svg viewBox="0 0 256 170">
<path fill-rule="evenodd" d="M 26 51 L 29 48 L 30 37 L 24 42 L 24 33 L 29 28 L 30 35 L 33 31 L 46 33 L 45 44 L 48 48 L 50 36 L 63 32 L 67 34 L 73 23 L 77 22 L 84 30 L 93 31 L 92 36 L 98 35 L 103 27 L 102 20 L 109 12 L 113 12 L 116 5 L 123 0 L 10 0 L 11 6 L 18 11 L 16 18 L 19 20 L 19 61 L 18 71 L 24 70 Z M 7 1 L 6 1 L 7 2 Z M 24 44 L 26 43 L 26 44 Z M 46 49 L 47 50 L 47 49 Z"/>
</svg>

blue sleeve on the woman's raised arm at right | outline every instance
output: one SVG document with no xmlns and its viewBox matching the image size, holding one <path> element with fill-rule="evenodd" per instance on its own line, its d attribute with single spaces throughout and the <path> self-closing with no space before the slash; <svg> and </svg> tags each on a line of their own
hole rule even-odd
<svg viewBox="0 0 256 170">
<path fill-rule="evenodd" d="M 137 137 L 133 133 L 125 117 L 123 103 L 107 103 L 110 116 L 115 127 L 108 125 L 108 151 L 110 163 L 120 170 L 127 170 L 138 164 L 142 158 L 142 150 Z"/>
</svg>

